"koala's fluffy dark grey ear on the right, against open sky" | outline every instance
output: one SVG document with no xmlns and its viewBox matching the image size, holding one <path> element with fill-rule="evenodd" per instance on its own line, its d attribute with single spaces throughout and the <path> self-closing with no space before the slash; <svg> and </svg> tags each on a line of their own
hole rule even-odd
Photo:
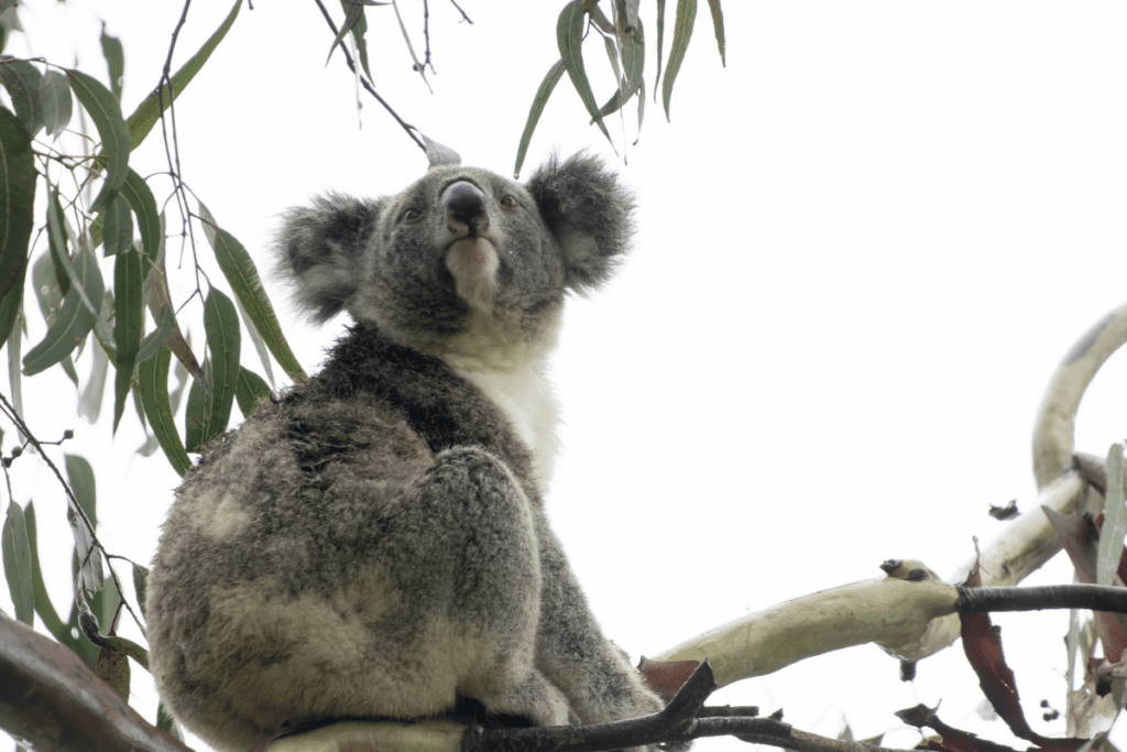
<svg viewBox="0 0 1127 752">
<path fill-rule="evenodd" d="M 564 246 L 566 284 L 578 292 L 602 284 L 629 248 L 633 195 L 584 153 L 562 163 L 553 154 L 524 187 Z"/>
</svg>

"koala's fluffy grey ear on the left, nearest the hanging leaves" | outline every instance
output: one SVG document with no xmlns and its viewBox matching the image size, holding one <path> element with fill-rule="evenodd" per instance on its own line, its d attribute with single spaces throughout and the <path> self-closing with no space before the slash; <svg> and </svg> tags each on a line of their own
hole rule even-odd
<svg viewBox="0 0 1127 752">
<path fill-rule="evenodd" d="M 277 236 L 279 266 L 318 324 L 339 313 L 360 287 L 379 216 L 380 203 L 336 194 L 285 213 Z"/>
</svg>

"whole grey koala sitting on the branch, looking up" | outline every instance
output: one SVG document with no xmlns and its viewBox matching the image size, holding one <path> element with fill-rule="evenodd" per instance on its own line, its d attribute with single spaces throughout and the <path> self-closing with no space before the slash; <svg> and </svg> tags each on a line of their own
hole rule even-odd
<svg viewBox="0 0 1127 752">
<path fill-rule="evenodd" d="M 632 212 L 580 154 L 524 185 L 438 163 L 396 196 L 286 214 L 298 300 L 353 325 L 177 490 L 145 616 L 184 726 L 241 751 L 305 722 L 449 717 L 467 700 L 525 725 L 663 707 L 601 632 L 543 510 L 564 301 L 610 276 Z"/>
</svg>

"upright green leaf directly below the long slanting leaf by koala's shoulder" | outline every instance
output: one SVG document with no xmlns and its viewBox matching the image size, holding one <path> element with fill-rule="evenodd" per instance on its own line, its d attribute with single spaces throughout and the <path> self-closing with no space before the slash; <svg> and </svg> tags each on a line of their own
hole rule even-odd
<svg viewBox="0 0 1127 752">
<path fill-rule="evenodd" d="M 231 299 L 215 287 L 204 299 L 204 333 L 211 350 L 212 372 L 207 379 L 211 389 L 204 395 L 205 419 L 201 444 L 227 431 L 239 384 L 239 313 Z"/>
</svg>

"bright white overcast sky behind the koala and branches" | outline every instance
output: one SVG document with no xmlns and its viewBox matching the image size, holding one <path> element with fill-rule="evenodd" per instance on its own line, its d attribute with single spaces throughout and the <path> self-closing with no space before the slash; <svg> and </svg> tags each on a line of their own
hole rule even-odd
<svg viewBox="0 0 1127 752">
<path fill-rule="evenodd" d="M 255 5 L 178 99 L 177 117 L 184 178 L 265 271 L 283 209 L 326 189 L 393 193 L 426 162 L 366 96 L 357 129 L 354 82 L 341 59 L 325 68 L 330 36 L 312 3 Z M 431 2 L 433 96 L 410 72 L 391 10 L 371 8 L 376 85 L 463 161 L 507 174 L 558 57 L 562 3 L 460 5 L 472 26 Z M 229 8 L 193 5 L 177 65 Z M 106 20 L 125 44 L 126 114 L 156 85 L 179 10 L 21 3 L 32 53 L 61 64 L 77 54 L 89 72 L 104 70 L 95 19 Z M 402 10 L 415 33 L 420 3 Z M 619 165 L 638 194 L 636 250 L 604 291 L 571 301 L 553 370 L 566 425 L 549 513 L 605 631 L 635 656 L 879 576 L 887 558 L 951 572 L 973 554 L 973 534 L 996 533 L 988 504 L 1030 508 L 1042 390 L 1072 343 L 1124 300 L 1127 7 L 728 0 L 725 11 L 728 65 L 701 3 L 672 124 L 653 100 L 637 147 L 632 106 L 624 123 L 609 123 L 620 154 L 625 134 L 629 166 Z M 23 43 L 9 52 L 23 54 Z M 605 56 L 589 47 L 602 100 Z M 561 81 L 524 174 L 553 149 L 615 160 L 586 122 Z M 159 131 L 131 165 L 167 169 Z M 158 202 L 166 186 L 156 183 Z M 287 315 L 282 289 L 268 290 Z M 344 321 L 285 324 L 312 371 Z M 1082 451 L 1102 454 L 1125 434 L 1122 361 L 1081 406 Z M 245 362 L 261 372 L 252 353 Z M 112 441 L 108 421 L 77 422 L 72 392 L 54 374 L 26 381 L 29 422 L 41 439 L 78 430 L 65 449 L 95 463 L 104 540 L 148 563 L 176 477 L 162 460 L 132 459 L 132 410 Z M 41 557 L 62 607 L 62 494 L 30 460 L 12 470 L 17 498 L 36 499 Z M 1039 577 L 1071 573 L 1055 561 Z M 1062 734 L 1036 706 L 1064 709 L 1066 614 L 995 622 L 1033 728 Z M 151 717 L 141 671 L 134 691 Z M 922 663 L 914 685 L 867 646 L 715 696 L 781 706 L 796 726 L 829 735 L 844 718 L 858 737 L 900 728 L 894 710 L 940 700 L 948 723 L 1013 743 L 1000 723 L 973 717 L 980 695 L 958 647 Z M 915 741 L 898 733 L 886 743 Z"/>
</svg>

